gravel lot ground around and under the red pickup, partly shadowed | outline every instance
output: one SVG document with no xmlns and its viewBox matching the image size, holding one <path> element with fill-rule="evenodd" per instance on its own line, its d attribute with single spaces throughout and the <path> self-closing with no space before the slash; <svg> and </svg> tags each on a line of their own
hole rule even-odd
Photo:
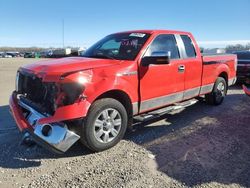
<svg viewBox="0 0 250 188">
<path fill-rule="evenodd" d="M 250 98 L 230 88 L 220 106 L 198 102 L 139 123 L 114 148 L 65 155 L 20 144 L 8 113 L 20 65 L 0 59 L 0 187 L 250 187 Z"/>
</svg>

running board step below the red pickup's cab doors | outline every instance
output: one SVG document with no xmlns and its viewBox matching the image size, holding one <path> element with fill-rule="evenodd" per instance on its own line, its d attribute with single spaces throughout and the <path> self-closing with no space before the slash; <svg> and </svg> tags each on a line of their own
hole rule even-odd
<svg viewBox="0 0 250 188">
<path fill-rule="evenodd" d="M 165 108 L 161 108 L 161 109 L 158 109 L 158 110 L 155 110 L 155 111 L 151 111 L 151 112 L 148 112 L 148 113 L 145 113 L 145 114 L 135 116 L 134 117 L 134 123 L 136 124 L 138 122 L 149 121 L 151 119 L 160 117 L 160 116 L 168 114 L 170 112 L 173 112 L 173 111 L 176 111 L 176 110 L 179 110 L 179 109 L 183 109 L 183 108 L 186 108 L 188 106 L 192 106 L 195 103 L 197 103 L 198 101 L 199 100 L 191 99 L 191 100 L 184 101 L 184 102 L 181 102 L 181 103 L 175 103 L 172 106 L 168 106 L 168 107 L 165 107 Z"/>
</svg>

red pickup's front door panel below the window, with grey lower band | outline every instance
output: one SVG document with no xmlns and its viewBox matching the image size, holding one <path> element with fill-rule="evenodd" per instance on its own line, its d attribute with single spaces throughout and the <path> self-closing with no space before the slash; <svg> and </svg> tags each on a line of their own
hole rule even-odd
<svg viewBox="0 0 250 188">
<path fill-rule="evenodd" d="M 180 65 L 182 65 L 182 61 L 176 60 L 171 61 L 167 65 L 140 67 L 140 97 L 142 107 L 140 112 L 182 100 L 184 72 L 178 72 Z M 144 103 L 147 104 L 144 105 Z"/>
</svg>

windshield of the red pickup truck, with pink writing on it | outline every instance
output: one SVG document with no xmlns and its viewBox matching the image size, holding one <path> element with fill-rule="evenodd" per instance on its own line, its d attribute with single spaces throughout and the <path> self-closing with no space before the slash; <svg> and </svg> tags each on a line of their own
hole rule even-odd
<svg viewBox="0 0 250 188">
<path fill-rule="evenodd" d="M 83 53 L 83 57 L 134 60 L 149 38 L 145 33 L 108 35 Z"/>
</svg>

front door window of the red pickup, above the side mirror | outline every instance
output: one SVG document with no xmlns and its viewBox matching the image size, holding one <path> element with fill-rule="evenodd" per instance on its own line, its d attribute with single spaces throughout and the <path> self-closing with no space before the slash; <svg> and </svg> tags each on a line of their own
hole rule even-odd
<svg viewBox="0 0 250 188">
<path fill-rule="evenodd" d="M 171 59 L 179 59 L 180 54 L 174 35 L 159 35 L 149 46 L 145 56 L 166 54 Z"/>
</svg>

